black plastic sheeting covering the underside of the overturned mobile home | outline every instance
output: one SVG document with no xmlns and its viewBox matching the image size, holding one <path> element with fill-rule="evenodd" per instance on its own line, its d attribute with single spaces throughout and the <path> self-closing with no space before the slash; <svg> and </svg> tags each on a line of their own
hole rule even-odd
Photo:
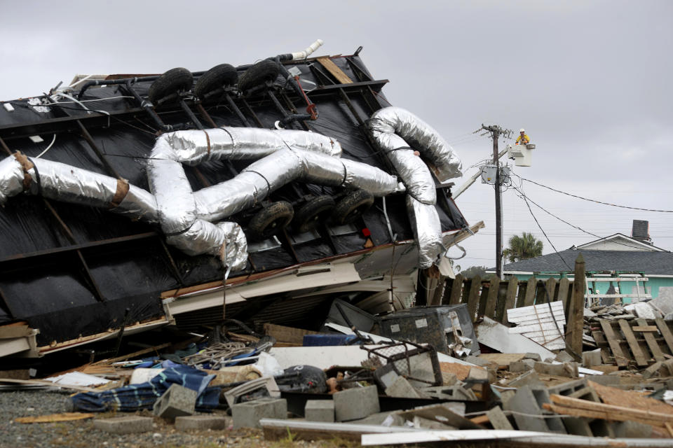
<svg viewBox="0 0 673 448">
<path fill-rule="evenodd" d="M 362 67 L 363 73 L 355 73 L 344 57 L 333 61 L 353 80 L 372 80 L 359 57 L 352 57 L 351 61 Z M 301 79 L 313 81 L 317 85 L 325 84 L 325 80 L 313 76 L 315 72 L 311 71 L 311 64 L 317 63 L 296 65 L 301 70 Z M 327 73 L 319 65 L 315 65 L 313 69 L 316 68 Z M 329 77 L 328 73 L 327 76 Z M 137 83 L 134 89 L 144 96 L 150 84 Z M 311 83 L 303 85 L 306 88 Z M 306 106 L 303 100 L 295 97 L 288 88 L 285 93 L 297 111 L 303 112 Z M 83 100 L 103 99 L 86 101 L 84 104 L 92 110 L 114 114 L 138 108 L 135 100 L 127 96 L 128 92 L 123 87 L 111 85 L 87 90 Z M 337 90 L 327 93 L 316 90 L 315 94 L 309 93 L 309 96 L 315 97 L 314 101 L 320 113 L 318 120 L 307 122 L 311 130 L 339 140 L 344 148 L 344 158 L 366 162 L 390 172 L 382 155 L 369 146 L 364 130 L 339 97 Z M 349 97 L 361 120 L 371 116 L 377 107 L 388 105 L 379 92 L 370 95 L 368 99 L 365 98 L 365 93 L 351 93 Z M 372 107 L 372 103 L 379 103 L 379 97 L 384 103 Z M 243 104 L 236 101 L 249 122 L 255 125 L 256 121 Z M 248 101 L 264 127 L 272 128 L 276 120 L 283 118 L 264 92 Z M 16 130 L 16 127 L 39 126 L 68 116 L 88 117 L 81 106 L 74 102 L 49 106 L 48 112 L 36 111 L 26 100 L 15 100 L 11 104 L 15 107 L 15 111 L 11 113 L 0 108 L 0 135 L 5 136 L 12 151 L 21 151 L 29 157 L 41 153 L 50 144 L 54 134 L 41 134 L 44 141 L 39 144 L 33 143 L 27 137 L 8 138 L 12 135 L 27 135 L 25 129 Z M 224 97 L 206 102 L 204 106 L 217 125 L 242 126 Z M 158 109 L 158 112 L 165 123 L 188 121 L 186 114 L 175 106 Z M 209 127 L 206 120 L 202 120 L 202 123 Z M 131 184 L 148 189 L 145 161 L 154 146 L 156 125 L 147 115 L 137 112 L 133 115 L 112 116 L 104 127 L 90 126 L 87 129 L 116 172 Z M 295 125 L 295 129 L 303 128 Z M 0 153 L 0 158 L 4 157 L 6 155 Z M 57 132 L 53 147 L 42 157 L 110 175 L 95 152 L 76 132 Z M 238 171 L 245 164 L 237 162 L 233 166 Z M 227 162 L 200 165 L 198 172 L 200 175 L 196 169 L 186 167 L 187 176 L 195 190 L 233 176 Z M 319 186 L 297 184 L 296 187 L 299 193 L 297 189 L 286 186 L 272 195 L 271 199 L 296 201 L 299 199 L 298 194 L 337 193 L 333 189 Z M 460 211 L 452 200 L 441 193 L 438 190 L 438 200 L 444 201 L 444 204 L 443 207 L 438 206 L 437 210 L 440 213 L 442 230 L 463 228 L 465 220 Z M 55 209 L 57 216 L 48 209 L 48 204 Z M 161 291 L 221 280 L 224 275 L 222 264 L 217 258 L 209 255 L 190 257 L 166 246 L 158 228 L 102 209 L 53 201 L 48 204 L 41 197 L 20 195 L 11 198 L 6 207 L 0 208 L 0 324 L 27 321 L 32 328 L 40 329 L 39 345 L 93 335 L 109 328 L 120 328 L 124 325 L 126 309 L 130 310 L 126 324 L 157 318 L 163 315 L 159 297 Z M 397 241 L 412 239 L 405 196 L 387 197 L 386 206 L 390 226 Z M 365 226 L 369 229 L 376 245 L 392 242 L 382 209 L 382 200 L 377 198 L 374 207 L 362 216 L 363 221 L 356 223 L 360 230 Z M 245 214 L 233 217 L 243 228 L 248 218 Z M 63 225 L 68 230 L 64 230 Z M 291 229 L 289 231 L 292 232 Z M 68 232 L 72 233 L 74 241 Z M 294 251 L 290 250 L 285 241 L 280 248 L 252 252 L 244 271 L 233 272 L 231 276 L 264 272 L 359 251 L 366 242 L 362 232 L 332 237 L 331 241 L 325 230 L 322 230 L 321 235 L 319 239 L 294 244 Z M 125 241 L 129 237 L 132 239 Z M 107 244 L 90 246 L 100 241 Z M 74 245 L 79 245 L 79 251 L 67 250 Z"/>
</svg>

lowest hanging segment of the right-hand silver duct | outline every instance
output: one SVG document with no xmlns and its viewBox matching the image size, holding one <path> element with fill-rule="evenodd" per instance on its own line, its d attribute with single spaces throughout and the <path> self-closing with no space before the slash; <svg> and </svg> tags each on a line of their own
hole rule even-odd
<svg viewBox="0 0 673 448">
<path fill-rule="evenodd" d="M 411 196 L 407 196 L 407 212 L 419 243 L 419 267 L 427 269 L 444 251 L 440 216 L 434 205 L 423 204 Z"/>
</svg>

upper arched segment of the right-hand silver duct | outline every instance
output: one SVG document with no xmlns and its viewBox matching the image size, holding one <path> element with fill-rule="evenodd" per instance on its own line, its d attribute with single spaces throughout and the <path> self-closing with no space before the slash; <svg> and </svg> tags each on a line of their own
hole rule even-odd
<svg viewBox="0 0 673 448">
<path fill-rule="evenodd" d="M 367 122 L 367 127 L 380 148 L 393 149 L 387 146 L 390 134 L 397 134 L 405 139 L 409 146 L 420 151 L 435 165 L 434 171 L 440 182 L 463 175 L 461 160 L 453 148 L 439 132 L 413 113 L 399 107 L 379 109 Z"/>
</svg>

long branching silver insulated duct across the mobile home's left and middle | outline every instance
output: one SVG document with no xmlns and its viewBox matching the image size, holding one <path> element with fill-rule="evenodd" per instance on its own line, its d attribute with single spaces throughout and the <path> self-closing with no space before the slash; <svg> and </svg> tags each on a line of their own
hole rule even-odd
<svg viewBox="0 0 673 448">
<path fill-rule="evenodd" d="M 0 205 L 25 192 L 109 209 L 158 223 L 169 244 L 189 255 L 217 255 L 236 271 L 247 262 L 243 230 L 237 223 L 215 222 L 254 207 L 286 183 L 362 188 L 379 196 L 405 190 L 395 176 L 340 155 L 338 141 L 313 132 L 238 127 L 172 132 L 152 149 L 149 193 L 123 179 L 15 153 L 0 161 Z M 256 161 L 229 181 L 191 190 L 183 164 L 225 159 Z"/>
</svg>

